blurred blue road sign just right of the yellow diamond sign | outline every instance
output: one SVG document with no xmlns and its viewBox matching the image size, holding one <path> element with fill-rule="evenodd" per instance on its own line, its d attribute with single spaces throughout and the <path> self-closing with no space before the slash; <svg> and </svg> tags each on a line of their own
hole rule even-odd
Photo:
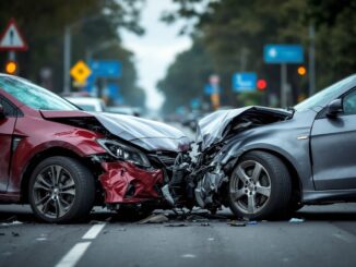
<svg viewBox="0 0 356 267">
<path fill-rule="evenodd" d="M 92 60 L 90 62 L 92 75 L 95 77 L 120 77 L 121 62 L 117 60 Z"/>
</svg>

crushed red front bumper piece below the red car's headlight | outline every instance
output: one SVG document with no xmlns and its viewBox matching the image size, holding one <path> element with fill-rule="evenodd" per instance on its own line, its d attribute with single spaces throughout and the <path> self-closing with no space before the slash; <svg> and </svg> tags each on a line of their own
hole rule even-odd
<svg viewBox="0 0 356 267">
<path fill-rule="evenodd" d="M 99 181 L 106 204 L 133 204 L 159 198 L 163 185 L 162 170 L 144 170 L 130 162 L 102 162 L 104 173 Z"/>
</svg>

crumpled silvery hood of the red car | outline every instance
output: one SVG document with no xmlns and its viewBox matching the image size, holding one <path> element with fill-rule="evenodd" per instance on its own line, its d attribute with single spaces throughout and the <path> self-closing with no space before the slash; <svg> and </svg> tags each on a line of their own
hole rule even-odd
<svg viewBox="0 0 356 267">
<path fill-rule="evenodd" d="M 40 113 L 45 119 L 57 119 L 61 122 L 66 122 L 66 119 L 82 118 L 84 120 L 87 117 L 94 117 L 109 133 L 150 151 L 183 151 L 191 144 L 191 141 L 179 130 L 142 118 L 86 111 L 40 110 Z"/>
</svg>

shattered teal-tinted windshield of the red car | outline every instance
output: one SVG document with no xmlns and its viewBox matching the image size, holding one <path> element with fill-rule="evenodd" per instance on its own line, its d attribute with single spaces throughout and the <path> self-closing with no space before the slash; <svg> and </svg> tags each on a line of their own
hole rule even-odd
<svg viewBox="0 0 356 267">
<path fill-rule="evenodd" d="M 24 78 L 0 76 L 0 88 L 33 109 L 79 110 L 60 96 Z"/>
</svg>

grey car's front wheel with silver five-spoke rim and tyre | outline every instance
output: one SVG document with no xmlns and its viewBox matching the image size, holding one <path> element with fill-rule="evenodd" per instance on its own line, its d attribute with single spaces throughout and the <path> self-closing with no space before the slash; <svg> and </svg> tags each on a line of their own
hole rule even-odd
<svg viewBox="0 0 356 267">
<path fill-rule="evenodd" d="M 284 216 L 290 203 L 292 183 L 283 161 L 264 151 L 241 157 L 229 180 L 228 202 L 239 218 Z"/>
</svg>

